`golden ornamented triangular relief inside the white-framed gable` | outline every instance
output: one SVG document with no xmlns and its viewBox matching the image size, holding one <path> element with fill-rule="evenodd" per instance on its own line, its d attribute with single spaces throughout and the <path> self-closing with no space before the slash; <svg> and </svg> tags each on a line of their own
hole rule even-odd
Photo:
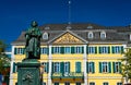
<svg viewBox="0 0 131 85">
<path fill-rule="evenodd" d="M 58 37 L 53 44 L 83 44 L 83 41 L 71 33 L 66 33 Z"/>
</svg>

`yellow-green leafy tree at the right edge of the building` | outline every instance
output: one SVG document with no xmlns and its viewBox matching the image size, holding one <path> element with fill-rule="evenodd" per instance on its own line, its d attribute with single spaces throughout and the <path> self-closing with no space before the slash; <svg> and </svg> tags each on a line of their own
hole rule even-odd
<svg viewBox="0 0 131 85">
<path fill-rule="evenodd" d="M 126 81 L 131 81 L 131 48 L 127 49 L 126 52 L 123 52 L 124 58 L 121 59 L 123 62 L 121 65 L 121 74 L 123 77 L 126 77 Z"/>
</svg>

